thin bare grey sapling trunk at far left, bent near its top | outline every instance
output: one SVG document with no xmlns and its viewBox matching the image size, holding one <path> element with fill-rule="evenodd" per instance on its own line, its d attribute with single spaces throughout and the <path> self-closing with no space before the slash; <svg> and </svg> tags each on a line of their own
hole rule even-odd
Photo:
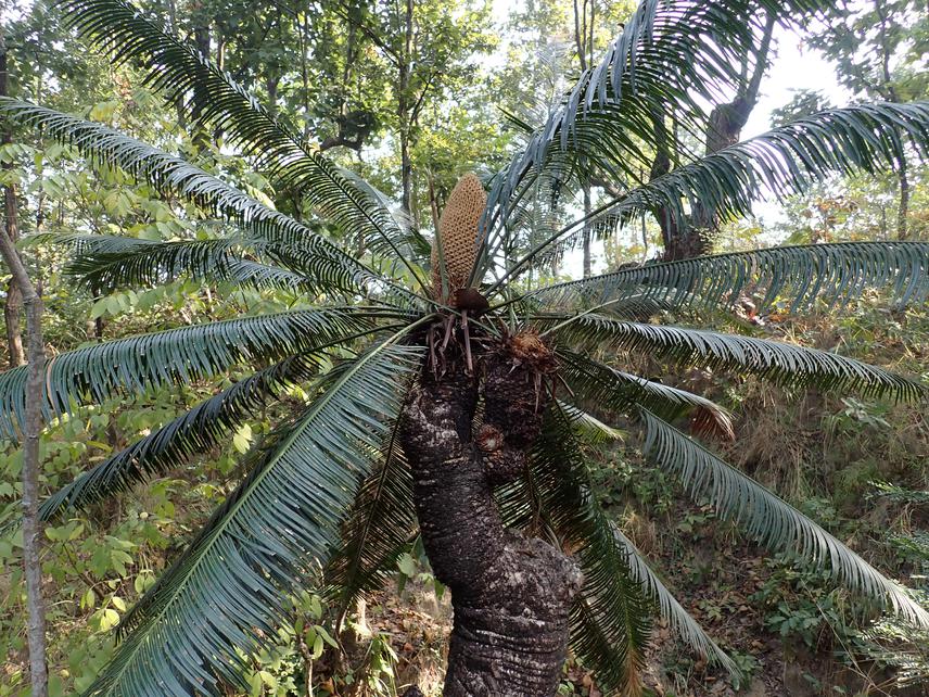
<svg viewBox="0 0 929 697">
<path fill-rule="evenodd" d="M 7 199 L 8 205 L 10 199 Z M 13 200 L 15 204 L 15 199 Z M 9 216 L 9 212 L 8 212 Z M 41 524 L 38 520 L 39 434 L 42 429 L 41 404 L 44 395 L 44 347 L 42 342 L 42 301 L 36 293 L 16 246 L 5 230 L 0 233 L 0 252 L 13 273 L 26 306 L 26 332 L 29 367 L 26 381 L 26 423 L 23 445 L 23 565 L 26 572 L 27 634 L 33 697 L 48 696 L 46 666 L 46 612 L 42 600 L 42 568 L 39 558 Z"/>
</svg>

